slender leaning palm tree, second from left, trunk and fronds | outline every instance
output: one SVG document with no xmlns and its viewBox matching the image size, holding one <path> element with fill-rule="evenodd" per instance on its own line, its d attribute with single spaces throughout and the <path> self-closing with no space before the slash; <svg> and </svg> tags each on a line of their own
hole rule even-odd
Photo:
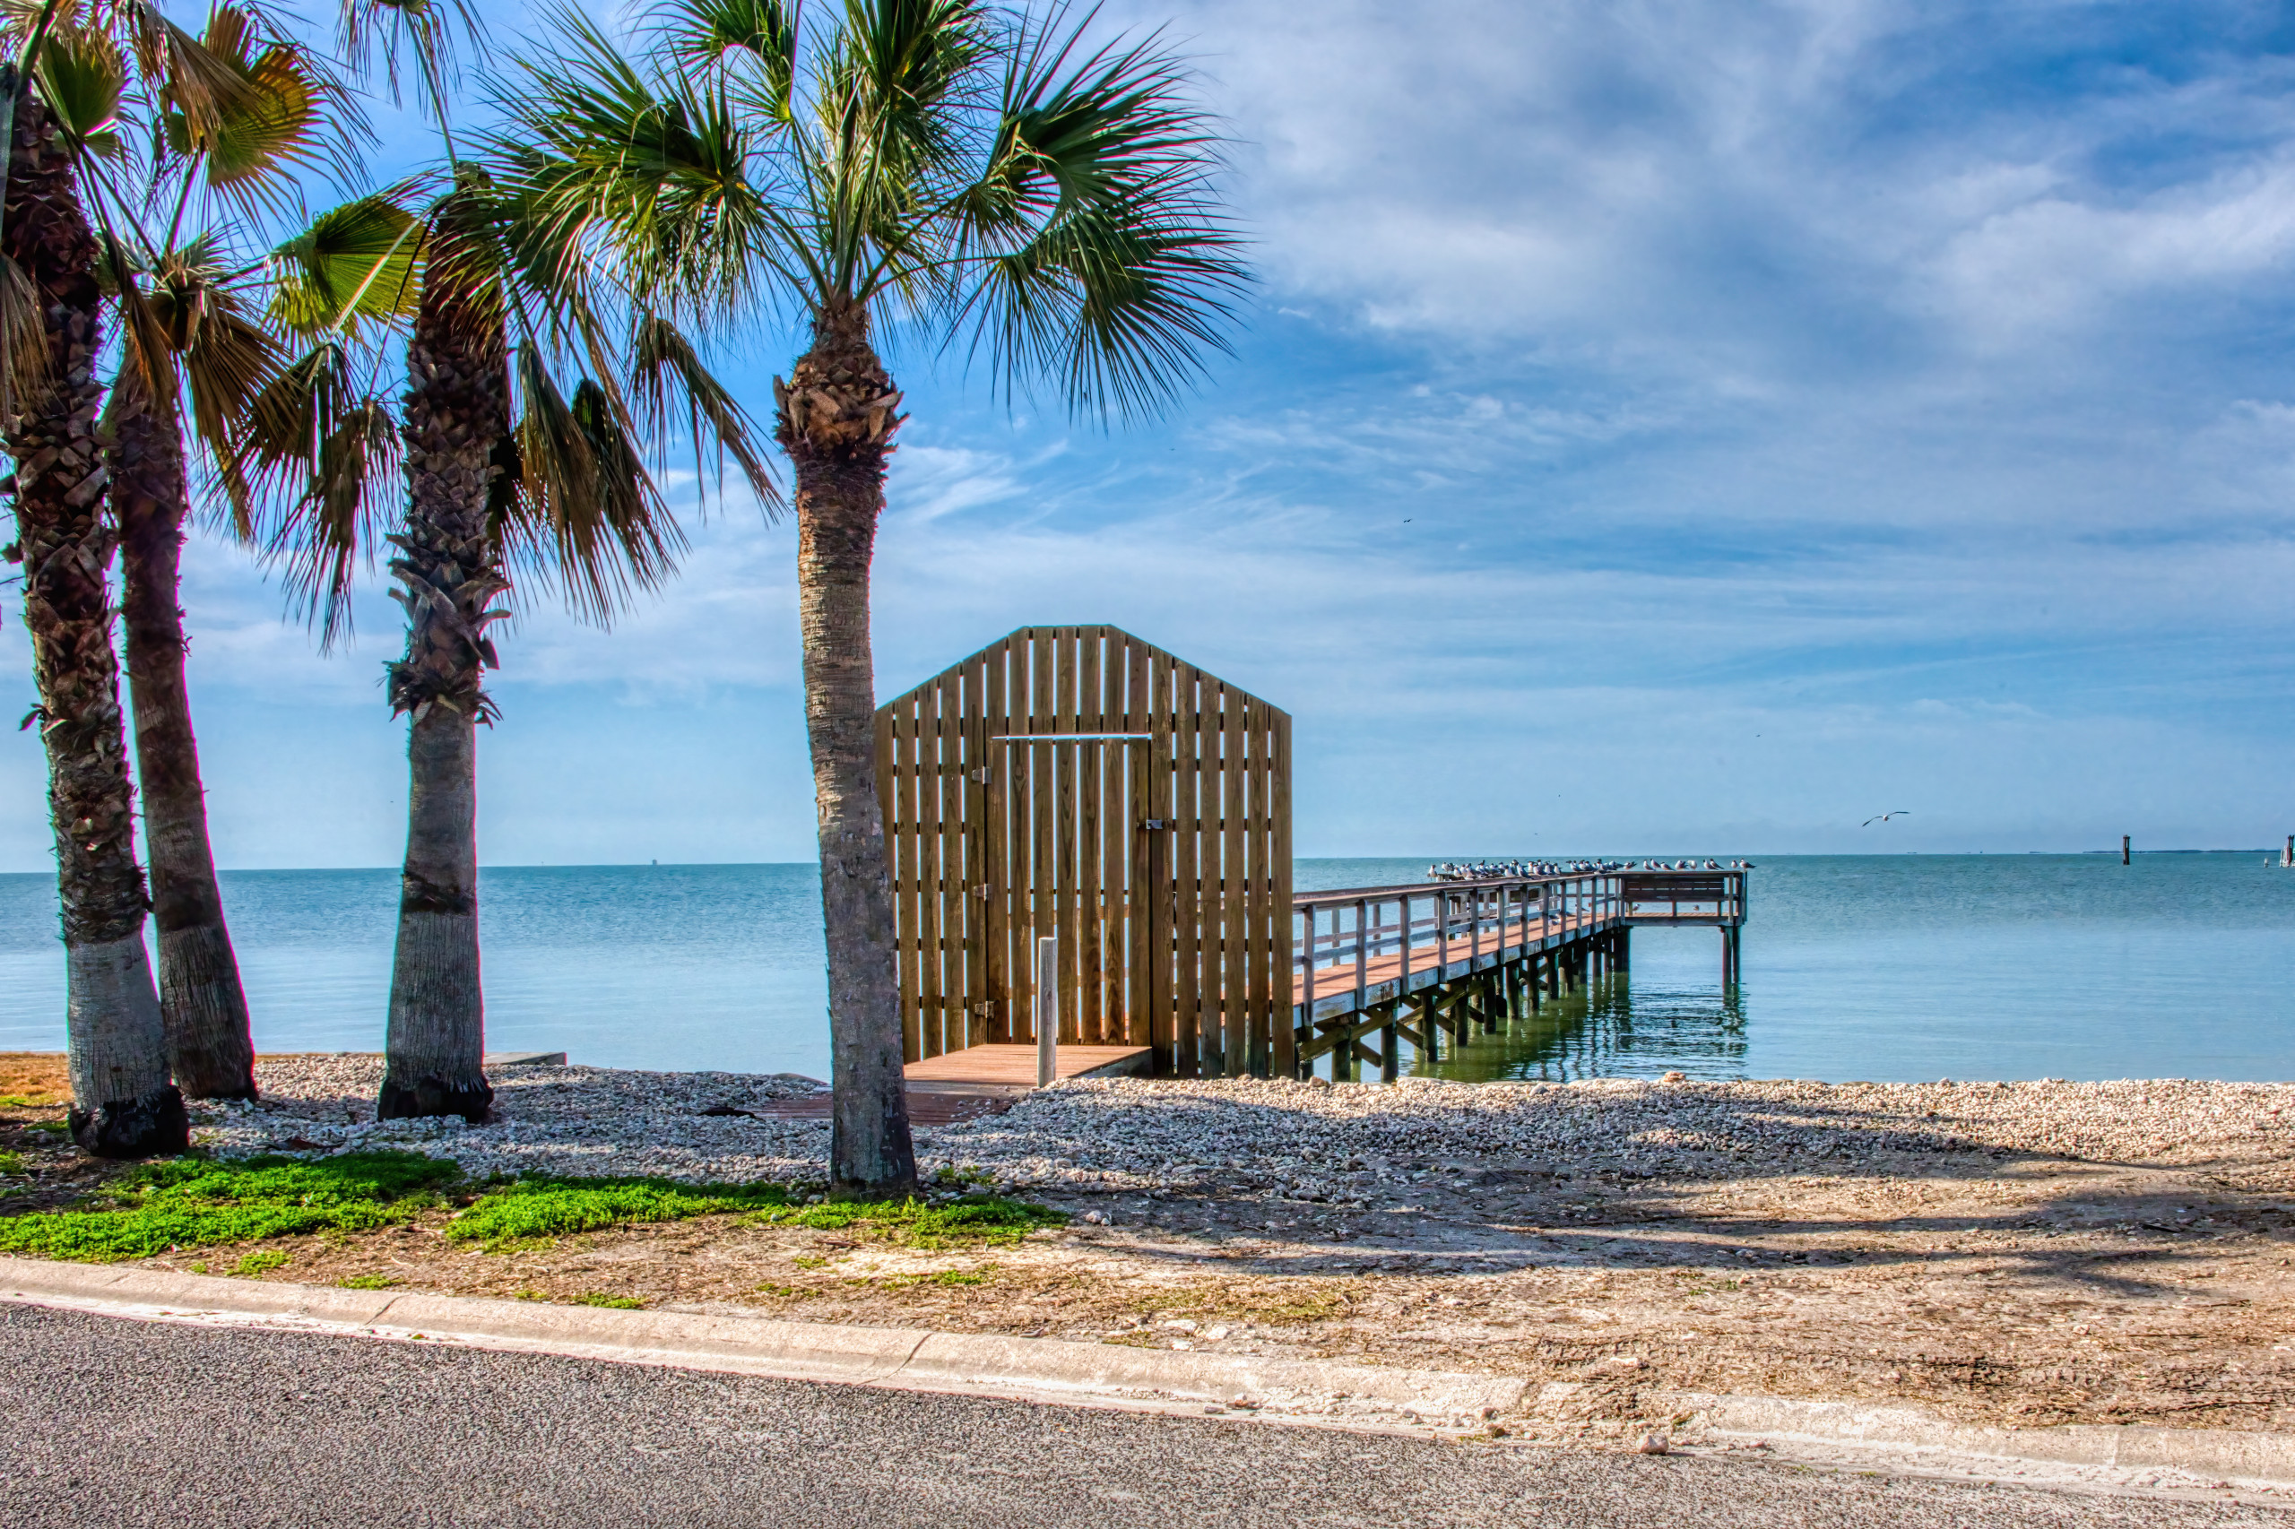
<svg viewBox="0 0 2295 1529">
<path fill-rule="evenodd" d="M 255 393 L 278 370 L 280 344 L 257 324 L 248 271 L 223 259 L 225 230 L 207 223 L 213 211 L 257 223 L 289 207 L 291 177 L 328 161 L 342 168 L 340 145 L 360 124 L 324 69 L 248 11 L 218 5 L 197 41 L 227 71 L 230 90 L 213 112 L 186 112 L 161 80 L 151 92 L 151 152 L 124 152 L 112 126 L 126 78 L 112 53 L 80 71 L 73 99 L 80 122 L 71 131 L 83 179 L 106 214 L 110 275 L 129 319 L 106 434 L 126 574 L 122 615 L 151 852 L 161 1017 L 179 1088 L 193 1097 L 255 1097 L 248 999 L 216 886 L 184 686 L 177 576 L 190 512 L 184 425 L 188 418 L 246 533 L 248 491 L 234 471 L 234 438 Z M 172 216 L 154 236 L 138 209 L 168 200 Z"/>
</svg>

